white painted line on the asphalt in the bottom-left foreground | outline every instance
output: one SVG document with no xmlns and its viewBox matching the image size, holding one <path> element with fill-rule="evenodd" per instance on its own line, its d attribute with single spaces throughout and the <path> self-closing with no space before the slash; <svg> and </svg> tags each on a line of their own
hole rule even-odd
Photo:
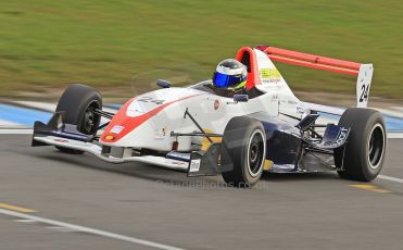
<svg viewBox="0 0 403 250">
<path fill-rule="evenodd" d="M 129 236 L 125 236 L 125 235 L 118 235 L 118 234 L 114 234 L 114 233 L 110 233 L 110 232 L 105 232 L 105 230 L 100 230 L 100 229 L 95 229 L 95 228 L 90 228 L 90 227 L 74 225 L 74 224 L 70 224 L 70 223 L 53 221 L 53 220 L 49 220 L 49 218 L 45 218 L 45 217 L 39 217 L 39 216 L 25 214 L 25 213 L 18 213 L 18 212 L 14 212 L 14 211 L 10 211 L 10 210 L 4 210 L 4 209 L 0 209 L 0 214 L 5 214 L 5 215 L 9 215 L 9 216 L 14 216 L 14 217 L 24 218 L 24 220 L 33 220 L 35 222 L 48 224 L 48 225 L 51 225 L 51 226 L 64 227 L 64 228 L 68 228 L 71 230 L 75 230 L 75 232 L 83 232 L 83 233 L 87 233 L 87 234 L 91 234 L 91 235 L 98 235 L 98 236 L 112 238 L 112 239 L 117 239 L 117 240 L 122 240 L 122 241 L 126 241 L 126 242 L 138 243 L 138 245 L 142 245 L 142 246 L 147 246 L 147 247 L 151 247 L 151 248 L 156 248 L 156 249 L 182 250 L 181 248 L 176 248 L 176 247 L 172 247 L 172 246 L 168 246 L 168 245 L 158 243 L 158 242 L 153 242 L 153 241 L 149 241 L 149 240 L 144 240 L 144 239 L 139 239 L 139 238 L 129 237 Z"/>
</svg>

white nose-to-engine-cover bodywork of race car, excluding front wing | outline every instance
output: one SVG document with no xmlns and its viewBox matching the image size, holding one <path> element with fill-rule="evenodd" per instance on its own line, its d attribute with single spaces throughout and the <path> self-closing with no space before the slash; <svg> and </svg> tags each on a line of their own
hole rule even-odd
<svg viewBox="0 0 403 250">
<path fill-rule="evenodd" d="M 166 104 L 161 111 L 147 117 L 147 121 L 134 128 L 119 140 L 110 142 L 105 135 L 118 136 L 126 128 L 125 122 L 112 123 L 101 137 L 101 143 L 106 146 L 150 148 L 158 151 L 169 151 L 174 140 L 179 142 L 179 151 L 197 150 L 201 145 L 201 137 L 172 137 L 171 132 L 199 132 L 190 118 L 184 118 L 186 109 L 200 123 L 203 129 L 210 133 L 223 134 L 228 121 L 234 116 L 241 116 L 254 112 L 267 112 L 273 116 L 284 113 L 293 117 L 301 117 L 310 112 L 292 93 L 286 80 L 278 73 L 273 62 L 260 50 L 254 50 L 261 74 L 261 85 L 256 88 L 262 96 L 250 99 L 248 102 L 235 103 L 232 99 L 219 97 L 206 91 L 188 88 L 166 88 L 141 95 L 127 103 L 121 114 L 125 115 L 126 124 L 130 120 Z M 263 77 L 262 77 L 263 76 Z M 199 85 L 209 84 L 207 82 Z M 163 104 L 159 101 L 163 101 Z M 168 103 L 168 104 L 167 104 Z"/>
</svg>

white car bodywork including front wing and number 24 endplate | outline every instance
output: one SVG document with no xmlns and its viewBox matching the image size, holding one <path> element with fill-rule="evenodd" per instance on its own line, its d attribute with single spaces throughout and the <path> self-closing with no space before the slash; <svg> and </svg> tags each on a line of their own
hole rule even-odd
<svg viewBox="0 0 403 250">
<path fill-rule="evenodd" d="M 151 149 L 169 152 L 174 142 L 175 150 L 190 152 L 201 149 L 204 137 L 173 136 L 172 133 L 200 132 L 189 116 L 188 111 L 206 133 L 223 134 L 229 120 L 255 112 L 265 112 L 280 116 L 291 124 L 312 111 L 342 114 L 343 110 L 300 101 L 291 91 L 286 80 L 270 59 L 261 50 L 253 49 L 255 55 L 255 88 L 263 95 L 249 99 L 248 102 L 235 102 L 231 98 L 197 89 L 211 84 L 203 82 L 186 88 L 164 88 L 147 92 L 129 100 L 113 117 L 99 139 L 99 143 L 83 142 L 74 139 L 60 139 L 53 136 L 34 137 L 46 145 L 66 147 L 95 154 L 112 163 L 128 161 L 146 162 L 176 170 L 187 170 L 188 162 L 164 157 L 134 155 L 133 149 Z M 257 71 L 257 72 L 256 72 Z M 365 108 L 368 101 L 373 65 L 362 64 L 357 79 L 357 107 Z M 121 158 L 102 153 L 102 147 L 123 149 Z"/>
</svg>

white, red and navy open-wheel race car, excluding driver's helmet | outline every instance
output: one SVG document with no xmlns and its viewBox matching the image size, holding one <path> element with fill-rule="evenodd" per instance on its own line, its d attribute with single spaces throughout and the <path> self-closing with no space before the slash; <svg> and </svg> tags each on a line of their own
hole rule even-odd
<svg viewBox="0 0 403 250">
<path fill-rule="evenodd" d="M 134 97 L 111 113 L 102 110 L 96 89 L 71 85 L 52 118 L 35 123 L 32 146 L 87 152 L 110 163 L 149 163 L 188 176 L 222 175 L 234 187 L 255 185 L 263 171 L 337 171 L 348 179 L 376 178 L 387 134 L 382 115 L 366 109 L 373 64 L 270 46 L 242 47 L 236 59 L 248 68 L 244 95 L 216 91 L 211 79 L 187 87 L 158 79 L 161 89 Z M 356 107 L 300 101 L 274 62 L 357 76 Z M 341 118 L 319 123 L 322 114 Z M 109 122 L 101 124 L 101 118 Z"/>
</svg>

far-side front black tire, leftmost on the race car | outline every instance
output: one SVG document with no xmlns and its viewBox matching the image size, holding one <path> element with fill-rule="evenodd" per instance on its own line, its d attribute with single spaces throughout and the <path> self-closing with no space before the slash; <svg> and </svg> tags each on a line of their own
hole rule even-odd
<svg viewBox="0 0 403 250">
<path fill-rule="evenodd" d="M 56 112 L 64 112 L 63 122 L 77 125 L 78 132 L 86 135 L 96 135 L 101 117 L 93 113 L 95 109 L 102 109 L 101 95 L 89 86 L 72 84 L 60 98 Z M 84 153 L 79 150 L 56 148 L 65 153 Z"/>
</svg>

